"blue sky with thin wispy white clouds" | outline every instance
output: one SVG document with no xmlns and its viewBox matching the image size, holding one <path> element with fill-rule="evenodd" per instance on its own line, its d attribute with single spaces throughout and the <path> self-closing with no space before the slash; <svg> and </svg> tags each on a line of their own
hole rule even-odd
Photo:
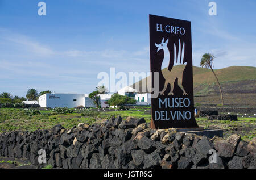
<svg viewBox="0 0 256 180">
<path fill-rule="evenodd" d="M 192 22 L 193 65 L 255 66 L 256 1 L 0 0 L 0 93 L 90 93 L 99 72 L 150 72 L 148 14 Z"/>
</svg>

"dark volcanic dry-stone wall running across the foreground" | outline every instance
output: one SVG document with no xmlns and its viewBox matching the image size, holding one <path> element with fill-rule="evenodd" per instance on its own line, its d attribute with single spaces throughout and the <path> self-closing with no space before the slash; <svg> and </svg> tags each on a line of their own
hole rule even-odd
<svg viewBox="0 0 256 180">
<path fill-rule="evenodd" d="M 153 131 L 145 120 L 120 116 L 101 124 L 80 123 L 72 129 L 55 125 L 51 131 L 0 134 L 0 156 L 30 160 L 38 167 L 54 168 L 255 168 L 256 139 L 250 143 L 232 135 L 220 137 Z M 47 163 L 38 164 L 38 151 Z M 209 164 L 209 151 L 217 152 Z"/>
</svg>

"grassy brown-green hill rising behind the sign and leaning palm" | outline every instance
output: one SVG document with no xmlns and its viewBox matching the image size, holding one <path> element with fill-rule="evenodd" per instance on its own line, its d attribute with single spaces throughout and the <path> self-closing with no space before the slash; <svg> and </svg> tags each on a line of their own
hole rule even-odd
<svg viewBox="0 0 256 180">
<path fill-rule="evenodd" d="M 172 76 L 181 78 L 181 66 L 174 66 Z M 163 69 L 167 73 L 167 68 Z M 214 72 L 218 77 L 226 105 L 235 106 L 256 106 L 256 68 L 250 66 L 230 66 L 224 69 L 215 69 Z M 147 77 L 148 78 L 148 77 Z M 134 83 L 131 87 L 142 91 L 146 86 L 147 79 Z M 139 87 L 139 88 L 138 88 Z M 220 91 L 216 79 L 209 69 L 193 66 L 193 88 L 195 102 L 203 105 L 217 105 L 221 103 Z M 146 88 L 145 88 L 146 89 Z"/>
</svg>

